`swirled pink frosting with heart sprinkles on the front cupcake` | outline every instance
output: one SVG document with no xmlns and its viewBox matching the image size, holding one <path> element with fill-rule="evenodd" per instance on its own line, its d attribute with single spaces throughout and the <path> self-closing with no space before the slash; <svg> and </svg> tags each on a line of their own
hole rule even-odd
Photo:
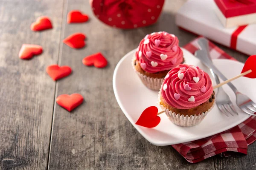
<svg viewBox="0 0 256 170">
<path fill-rule="evenodd" d="M 190 109 L 206 102 L 213 88 L 209 75 L 199 67 L 180 64 L 166 75 L 160 91 L 173 108 Z"/>
</svg>

